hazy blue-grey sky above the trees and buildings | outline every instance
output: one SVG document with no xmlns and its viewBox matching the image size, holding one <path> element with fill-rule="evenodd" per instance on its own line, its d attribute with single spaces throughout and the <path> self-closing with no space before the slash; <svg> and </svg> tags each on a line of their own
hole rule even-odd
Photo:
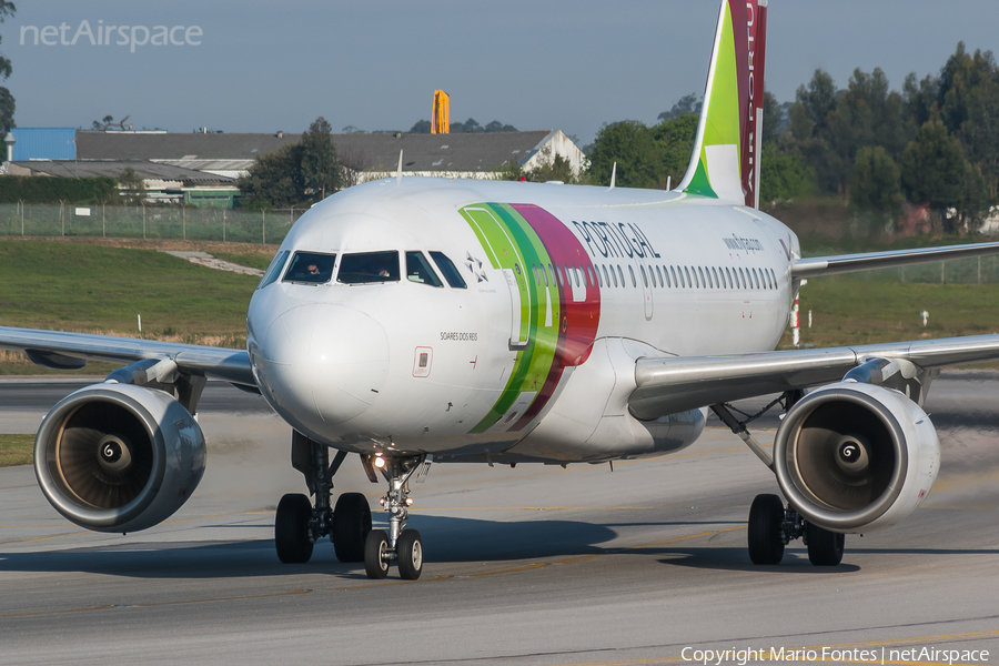
<svg viewBox="0 0 999 666">
<path fill-rule="evenodd" d="M 0 24 L 0 53 L 13 65 L 0 84 L 17 100 L 18 127 L 90 129 L 104 115 L 129 115 L 137 130 L 301 132 L 322 115 L 334 132 L 406 131 L 430 119 L 433 92 L 443 89 L 452 122 L 561 129 L 581 147 L 605 122 L 654 124 L 679 98 L 704 91 L 719 7 L 717 0 L 16 4 L 16 16 Z M 127 29 L 98 46 L 80 31 L 82 21 L 94 41 L 99 28 Z M 767 89 L 790 101 L 817 68 L 846 88 L 855 68 L 876 67 L 900 89 L 909 72 L 938 73 L 958 41 L 969 51 L 999 52 L 997 24 L 997 0 L 770 0 Z M 62 43 L 78 31 L 75 44 Z M 171 37 L 174 43 L 151 43 Z"/>
</svg>

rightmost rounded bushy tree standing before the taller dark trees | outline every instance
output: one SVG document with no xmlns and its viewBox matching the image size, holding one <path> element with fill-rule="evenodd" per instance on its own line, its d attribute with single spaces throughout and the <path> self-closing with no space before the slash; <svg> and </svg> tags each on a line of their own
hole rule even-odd
<svg viewBox="0 0 999 666">
<path fill-rule="evenodd" d="M 965 190 L 965 158 L 961 144 L 947 132 L 942 121 L 919 128 L 901 159 L 901 185 L 914 203 L 928 203 L 945 212 L 961 205 Z"/>
</svg>

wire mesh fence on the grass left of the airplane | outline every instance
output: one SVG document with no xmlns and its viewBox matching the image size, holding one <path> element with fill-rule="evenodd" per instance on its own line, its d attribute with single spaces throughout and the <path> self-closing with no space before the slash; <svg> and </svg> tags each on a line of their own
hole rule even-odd
<svg viewBox="0 0 999 666">
<path fill-rule="evenodd" d="M 4 203 L 0 204 L 0 236 L 104 236 L 278 244 L 307 210 Z"/>
</svg>

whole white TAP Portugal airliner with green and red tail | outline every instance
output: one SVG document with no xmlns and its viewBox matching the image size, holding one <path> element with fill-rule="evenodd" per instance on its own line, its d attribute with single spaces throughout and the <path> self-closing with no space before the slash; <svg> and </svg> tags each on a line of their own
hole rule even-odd
<svg viewBox="0 0 999 666">
<path fill-rule="evenodd" d="M 845 534 L 899 523 L 940 466 L 922 410 L 940 369 L 999 357 L 999 335 L 774 351 L 804 279 L 992 254 L 999 243 L 806 259 L 759 210 L 767 0 L 723 0 L 689 168 L 673 190 L 396 178 L 337 192 L 289 232 L 253 293 L 245 351 L 0 327 L 36 363 L 122 363 L 42 421 L 52 506 L 99 532 L 157 525 L 205 465 L 208 379 L 259 393 L 293 428 L 310 495 L 281 498 L 275 547 L 332 541 L 371 578 L 423 571 L 411 482 L 433 463 L 607 463 L 690 446 L 708 411 L 775 474 L 748 551 L 818 566 Z M 773 453 L 729 408 L 779 394 Z M 360 493 L 357 454 L 389 531 Z M 310 498 L 310 496 L 312 498 Z"/>
</svg>

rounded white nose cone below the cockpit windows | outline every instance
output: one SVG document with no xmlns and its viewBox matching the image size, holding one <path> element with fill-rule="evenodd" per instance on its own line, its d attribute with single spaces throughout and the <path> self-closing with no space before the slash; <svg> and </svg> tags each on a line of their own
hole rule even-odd
<svg viewBox="0 0 999 666">
<path fill-rule="evenodd" d="M 343 305 L 287 310 L 260 345 L 261 380 L 282 415 L 321 431 L 363 413 L 389 374 L 389 337 L 371 316 Z"/>
</svg>

